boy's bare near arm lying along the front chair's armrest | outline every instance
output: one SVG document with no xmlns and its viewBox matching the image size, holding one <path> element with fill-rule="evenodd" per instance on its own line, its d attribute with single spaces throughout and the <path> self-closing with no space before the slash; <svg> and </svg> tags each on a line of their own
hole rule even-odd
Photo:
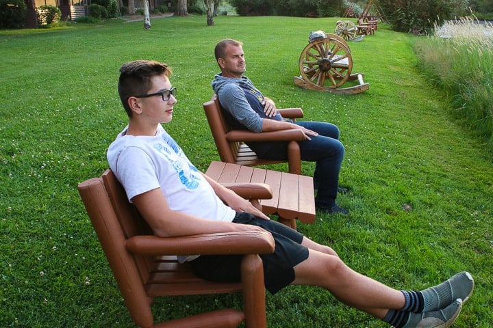
<svg viewBox="0 0 493 328">
<path fill-rule="evenodd" d="M 152 189 L 132 198 L 140 214 L 156 236 L 188 236 L 217 232 L 263 231 L 256 226 L 227 221 L 212 221 L 171 210 L 160 188 Z"/>
</svg>

